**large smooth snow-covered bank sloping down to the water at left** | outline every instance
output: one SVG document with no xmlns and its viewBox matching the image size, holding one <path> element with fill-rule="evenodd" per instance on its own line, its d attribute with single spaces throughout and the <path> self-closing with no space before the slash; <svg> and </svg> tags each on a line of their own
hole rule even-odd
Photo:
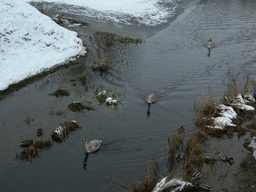
<svg viewBox="0 0 256 192">
<path fill-rule="evenodd" d="M 24 1 L 0 0 L 0 90 L 86 53 L 69 31 Z"/>
</svg>

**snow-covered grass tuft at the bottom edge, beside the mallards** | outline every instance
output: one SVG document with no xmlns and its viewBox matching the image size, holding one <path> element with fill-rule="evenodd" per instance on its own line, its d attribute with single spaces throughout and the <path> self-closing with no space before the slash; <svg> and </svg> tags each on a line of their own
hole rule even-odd
<svg viewBox="0 0 256 192">
<path fill-rule="evenodd" d="M 193 186 L 192 183 L 183 181 L 182 178 L 173 178 L 170 181 L 166 181 L 166 179 L 167 177 L 164 177 L 159 183 L 157 183 L 152 192 L 166 191 L 170 188 L 170 192 L 182 191 L 184 187 Z"/>
</svg>

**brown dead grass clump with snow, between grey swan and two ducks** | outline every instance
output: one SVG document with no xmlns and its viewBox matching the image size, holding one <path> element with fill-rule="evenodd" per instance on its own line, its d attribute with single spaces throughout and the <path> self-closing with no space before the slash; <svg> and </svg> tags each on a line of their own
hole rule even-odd
<svg viewBox="0 0 256 192">
<path fill-rule="evenodd" d="M 63 141 L 71 131 L 76 131 L 80 126 L 75 121 L 64 121 L 60 126 L 52 131 L 51 138 L 53 141 Z"/>
</svg>

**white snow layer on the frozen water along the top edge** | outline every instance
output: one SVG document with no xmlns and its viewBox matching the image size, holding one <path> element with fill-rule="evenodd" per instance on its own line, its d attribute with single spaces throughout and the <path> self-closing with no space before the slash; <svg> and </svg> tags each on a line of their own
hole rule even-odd
<svg viewBox="0 0 256 192">
<path fill-rule="evenodd" d="M 39 1 L 41 0 L 25 0 Z M 160 23 L 168 22 L 168 18 L 177 11 L 180 0 L 44 0 L 60 6 L 63 12 L 80 15 L 96 21 L 125 23 L 134 25 L 140 23 L 142 25 L 160 25 Z M 56 3 L 56 4 L 55 4 Z M 53 4 L 51 4 L 53 6 Z"/>
</svg>

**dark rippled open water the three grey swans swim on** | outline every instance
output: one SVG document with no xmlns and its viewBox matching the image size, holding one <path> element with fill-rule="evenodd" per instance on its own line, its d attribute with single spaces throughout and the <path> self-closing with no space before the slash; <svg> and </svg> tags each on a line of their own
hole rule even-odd
<svg viewBox="0 0 256 192">
<path fill-rule="evenodd" d="M 83 64 L 48 75 L 0 101 L 1 191 L 112 191 L 106 184 L 110 175 L 127 185 L 142 180 L 155 155 L 161 174 L 168 174 L 167 149 L 163 147 L 167 146 L 168 136 L 181 125 L 186 131 L 196 129 L 194 99 L 201 92 L 208 93 L 209 86 L 222 96 L 221 78 L 230 66 L 240 69 L 251 65 L 255 69 L 255 13 L 255 1 L 200 1 L 162 30 L 159 27 L 143 33 L 142 28 L 131 28 L 131 33 L 144 34 L 146 42 L 139 45 L 115 43 L 108 49 L 81 35 L 88 46 Z M 91 31 L 82 29 L 79 33 Z M 99 25 L 100 31 L 104 29 Z M 123 29 L 117 35 L 125 31 L 130 34 L 129 26 Z M 158 32 L 150 35 L 154 31 Z M 214 45 L 210 51 L 205 46 L 209 39 Z M 95 88 L 89 87 L 86 92 L 85 85 L 77 81 L 73 87 L 70 81 L 78 80 L 84 67 L 95 65 L 105 53 L 112 57 L 110 72 L 88 70 L 86 85 L 94 83 L 103 85 L 104 90 L 116 88 L 125 93 L 119 111 L 111 111 L 91 99 Z M 70 90 L 71 95 L 61 99 L 47 95 L 58 87 Z M 149 90 L 157 99 L 147 114 L 145 98 Z M 92 101 L 97 111 L 71 112 L 67 106 L 74 100 Z M 61 116 L 56 115 L 59 111 Z M 24 122 L 27 116 L 30 125 Z M 19 144 L 22 139 L 37 140 L 38 128 L 44 130 L 41 138 L 50 139 L 51 131 L 66 120 L 76 120 L 82 129 L 65 142 L 54 143 L 51 150 L 43 151 L 32 163 L 14 159 L 23 150 Z M 84 137 L 102 140 L 102 147 L 86 156 Z M 216 151 L 233 154 L 238 161 L 232 167 L 222 162 L 217 165 L 219 173 L 233 174 L 246 154 L 242 143 L 243 138 L 236 137 L 227 140 L 227 145 L 214 140 L 215 148 L 206 155 L 218 158 Z M 228 177 L 222 180 L 208 175 L 204 181 L 213 191 L 233 185 Z"/>
</svg>

